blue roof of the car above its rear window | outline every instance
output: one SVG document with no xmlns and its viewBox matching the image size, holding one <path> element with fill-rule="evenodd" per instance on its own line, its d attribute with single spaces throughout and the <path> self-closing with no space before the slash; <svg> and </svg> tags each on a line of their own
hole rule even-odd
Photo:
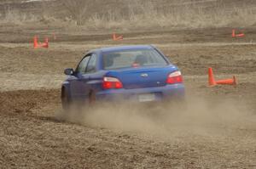
<svg viewBox="0 0 256 169">
<path fill-rule="evenodd" d="M 152 49 L 153 47 L 150 45 L 128 45 L 128 46 L 117 46 L 117 47 L 109 47 L 109 48 L 98 48 L 92 50 L 90 52 L 117 52 L 121 50 L 136 50 L 136 49 Z"/>
</svg>

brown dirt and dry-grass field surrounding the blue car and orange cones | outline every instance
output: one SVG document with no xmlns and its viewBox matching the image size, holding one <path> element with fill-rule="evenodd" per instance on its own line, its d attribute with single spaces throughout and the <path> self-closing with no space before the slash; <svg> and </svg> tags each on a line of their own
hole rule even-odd
<svg viewBox="0 0 256 169">
<path fill-rule="evenodd" d="M 105 8 L 112 8 L 113 1 L 108 2 Z M 162 0 L 172 7 L 188 2 Z M 218 3 L 195 1 L 201 8 L 212 2 Z M 255 8 L 255 1 L 221 2 Z M 3 1 L 0 8 L 7 3 L 19 9 L 19 0 Z M 40 14 L 40 4 L 23 5 L 23 10 L 32 5 Z M 59 13 L 54 15 L 58 21 Z M 125 38 L 113 42 L 108 26 L 62 29 L 43 21 L 24 25 L 6 18 L 1 23 L 0 168 L 256 168 L 255 25 L 236 27 L 246 34 L 241 38 L 231 37 L 232 25 L 117 27 L 114 31 Z M 48 36 L 49 48 L 33 49 L 34 35 L 41 41 Z M 185 105 L 97 107 L 79 122 L 57 118 L 65 68 L 74 68 L 93 48 L 148 43 L 182 70 Z M 236 87 L 207 87 L 210 66 L 218 79 L 236 76 Z"/>
</svg>

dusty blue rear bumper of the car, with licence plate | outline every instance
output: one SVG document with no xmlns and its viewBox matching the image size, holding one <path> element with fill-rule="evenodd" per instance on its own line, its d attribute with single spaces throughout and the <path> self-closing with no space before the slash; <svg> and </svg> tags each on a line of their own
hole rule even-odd
<svg viewBox="0 0 256 169">
<path fill-rule="evenodd" d="M 184 86 L 180 83 L 166 85 L 164 87 L 103 90 L 96 93 L 96 100 L 150 102 L 163 101 L 167 99 L 183 99 L 184 94 Z"/>
</svg>

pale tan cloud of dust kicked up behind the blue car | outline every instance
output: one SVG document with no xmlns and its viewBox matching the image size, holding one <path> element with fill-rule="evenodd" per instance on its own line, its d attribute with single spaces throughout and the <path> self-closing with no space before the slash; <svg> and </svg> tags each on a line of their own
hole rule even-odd
<svg viewBox="0 0 256 169">
<path fill-rule="evenodd" d="M 245 105 L 236 100 L 195 97 L 182 104 L 100 104 L 91 109 L 73 110 L 69 120 L 91 127 L 163 137 L 191 133 L 207 136 L 224 134 L 227 129 L 255 128 L 255 114 Z"/>
</svg>

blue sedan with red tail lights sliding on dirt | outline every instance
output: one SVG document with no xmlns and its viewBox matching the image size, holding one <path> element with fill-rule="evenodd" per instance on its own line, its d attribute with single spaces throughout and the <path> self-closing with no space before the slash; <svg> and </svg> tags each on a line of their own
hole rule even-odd
<svg viewBox="0 0 256 169">
<path fill-rule="evenodd" d="M 91 50 L 76 70 L 66 69 L 61 102 L 155 102 L 183 98 L 183 77 L 159 49 L 148 45 Z"/>
</svg>

